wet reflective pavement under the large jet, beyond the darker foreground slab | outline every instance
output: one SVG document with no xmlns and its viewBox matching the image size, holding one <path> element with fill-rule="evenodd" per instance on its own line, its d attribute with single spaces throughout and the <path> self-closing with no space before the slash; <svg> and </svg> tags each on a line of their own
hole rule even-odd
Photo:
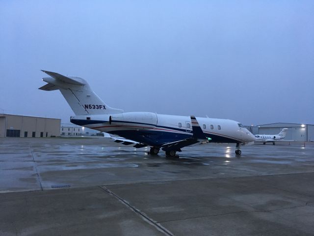
<svg viewBox="0 0 314 236">
<path fill-rule="evenodd" d="M 96 186 L 124 182 L 241 177 L 312 172 L 314 145 L 252 145 L 235 155 L 235 145 L 183 148 L 180 158 L 149 148 L 100 139 L 4 138 L 0 145 L 0 191 L 26 191 L 52 185 Z"/>
</svg>

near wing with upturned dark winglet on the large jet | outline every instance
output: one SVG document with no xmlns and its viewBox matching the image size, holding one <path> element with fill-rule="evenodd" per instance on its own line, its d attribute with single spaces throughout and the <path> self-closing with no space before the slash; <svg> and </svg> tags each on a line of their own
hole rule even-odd
<svg viewBox="0 0 314 236">
<path fill-rule="evenodd" d="M 181 148 L 184 148 L 186 146 L 190 146 L 197 143 L 199 144 L 208 143 L 209 139 L 205 136 L 195 116 L 191 116 L 191 123 L 192 123 L 192 131 L 193 131 L 192 137 L 183 139 L 180 141 L 164 144 L 161 149 L 164 151 L 170 151 L 170 150 L 181 151 Z"/>
</svg>

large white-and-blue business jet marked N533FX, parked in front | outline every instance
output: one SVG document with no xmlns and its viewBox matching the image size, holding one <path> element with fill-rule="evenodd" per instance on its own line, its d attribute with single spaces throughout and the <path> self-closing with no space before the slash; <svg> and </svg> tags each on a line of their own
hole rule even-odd
<svg viewBox="0 0 314 236">
<path fill-rule="evenodd" d="M 70 118 L 72 123 L 117 135 L 121 137 L 114 137 L 117 142 L 134 144 L 135 148 L 150 146 L 150 154 L 162 149 L 166 156 L 178 157 L 176 152 L 190 145 L 235 143 L 235 153 L 240 155 L 241 145 L 255 140 L 241 123 L 230 119 L 124 112 L 105 104 L 84 79 L 42 71 L 50 77 L 43 78 L 47 84 L 39 89 L 60 90 L 75 114 Z"/>
</svg>

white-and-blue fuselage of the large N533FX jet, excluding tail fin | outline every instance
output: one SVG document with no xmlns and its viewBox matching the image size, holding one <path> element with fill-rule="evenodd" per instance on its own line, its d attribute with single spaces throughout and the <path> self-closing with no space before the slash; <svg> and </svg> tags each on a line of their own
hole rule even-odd
<svg viewBox="0 0 314 236">
<path fill-rule="evenodd" d="M 255 140 L 253 134 L 234 120 L 216 118 L 197 120 L 202 131 L 213 143 L 249 143 Z M 71 117 L 71 122 L 154 146 L 186 139 L 193 134 L 190 117 L 150 112 L 80 115 Z"/>
</svg>

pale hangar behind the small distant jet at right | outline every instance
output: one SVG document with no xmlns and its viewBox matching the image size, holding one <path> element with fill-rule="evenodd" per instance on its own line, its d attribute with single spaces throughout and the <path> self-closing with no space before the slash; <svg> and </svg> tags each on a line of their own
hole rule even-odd
<svg viewBox="0 0 314 236">
<path fill-rule="evenodd" d="M 296 123 L 272 123 L 261 124 L 257 126 L 247 126 L 255 134 L 278 134 L 281 129 L 288 128 L 286 140 L 314 142 L 314 125 L 313 124 L 296 124 Z"/>
</svg>

